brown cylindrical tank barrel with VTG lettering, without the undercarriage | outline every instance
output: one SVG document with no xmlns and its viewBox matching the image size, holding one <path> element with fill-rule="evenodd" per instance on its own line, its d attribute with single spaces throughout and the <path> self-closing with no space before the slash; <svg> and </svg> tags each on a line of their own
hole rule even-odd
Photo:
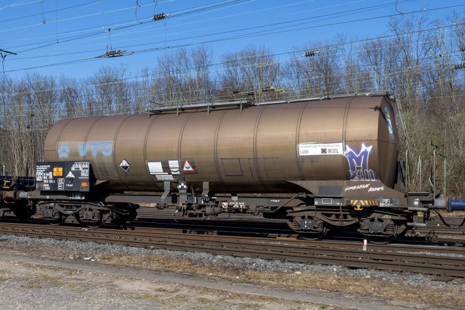
<svg viewBox="0 0 465 310">
<path fill-rule="evenodd" d="M 58 121 L 45 160 L 90 160 L 112 190 L 163 191 L 185 180 L 215 193 L 294 193 L 298 180 L 394 186 L 398 139 L 385 96 L 342 97 Z"/>
</svg>

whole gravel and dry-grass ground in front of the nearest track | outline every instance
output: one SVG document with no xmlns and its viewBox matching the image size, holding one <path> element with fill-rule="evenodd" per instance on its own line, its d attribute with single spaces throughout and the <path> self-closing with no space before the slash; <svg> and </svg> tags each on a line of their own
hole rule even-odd
<svg viewBox="0 0 465 310">
<path fill-rule="evenodd" d="M 465 309 L 464 292 L 461 278 L 0 235 L 2 309 Z"/>
</svg>

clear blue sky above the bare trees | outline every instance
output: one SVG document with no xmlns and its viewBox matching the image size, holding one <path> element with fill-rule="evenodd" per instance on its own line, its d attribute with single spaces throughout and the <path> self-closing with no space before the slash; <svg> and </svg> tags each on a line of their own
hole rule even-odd
<svg viewBox="0 0 465 310">
<path fill-rule="evenodd" d="M 396 8 L 395 0 L 158 0 L 155 5 L 156 2 L 0 0 L 0 49 L 17 53 L 5 58 L 5 74 L 21 78 L 35 71 L 82 78 L 99 67 L 121 63 L 130 71 L 139 71 L 143 67 L 153 68 L 158 56 L 171 53 L 176 46 L 193 47 L 200 43 L 211 47 L 215 56 L 250 44 L 265 45 L 280 53 L 317 40 L 330 41 L 337 34 L 357 38 L 386 34 L 389 18 L 377 16 L 465 4 L 458 0 L 398 0 Z M 463 14 L 465 6 L 425 14 L 431 20 L 443 19 L 453 10 Z M 154 12 L 171 16 L 150 21 Z M 369 20 L 326 25 L 357 19 Z M 265 35 L 266 32 L 276 33 Z M 244 35 L 247 36 L 230 38 Z M 171 48 L 141 53 L 165 46 Z M 110 49 L 139 53 L 75 62 Z M 47 64 L 57 65 L 19 70 Z"/>
</svg>

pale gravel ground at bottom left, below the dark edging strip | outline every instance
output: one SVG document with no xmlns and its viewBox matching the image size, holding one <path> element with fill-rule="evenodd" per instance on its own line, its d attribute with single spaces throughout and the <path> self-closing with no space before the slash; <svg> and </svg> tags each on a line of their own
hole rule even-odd
<svg viewBox="0 0 465 310">
<path fill-rule="evenodd" d="M 2 309 L 318 309 L 307 302 L 0 260 Z"/>
</svg>

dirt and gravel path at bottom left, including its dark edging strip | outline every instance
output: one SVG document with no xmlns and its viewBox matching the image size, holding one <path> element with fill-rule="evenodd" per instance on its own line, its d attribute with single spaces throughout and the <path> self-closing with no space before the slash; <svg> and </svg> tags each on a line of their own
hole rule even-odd
<svg viewBox="0 0 465 310">
<path fill-rule="evenodd" d="M 69 262 L 0 254 L 0 266 L 1 304 L 11 309 L 32 309 L 40 305 L 47 305 L 47 308 L 118 308 L 129 301 L 132 308 L 319 309 L 330 306 L 394 309 L 382 300 L 356 302 L 329 298 L 318 291 L 278 291 L 258 285 L 230 284 L 91 261 Z M 5 294 L 6 285 L 13 292 Z"/>
</svg>

